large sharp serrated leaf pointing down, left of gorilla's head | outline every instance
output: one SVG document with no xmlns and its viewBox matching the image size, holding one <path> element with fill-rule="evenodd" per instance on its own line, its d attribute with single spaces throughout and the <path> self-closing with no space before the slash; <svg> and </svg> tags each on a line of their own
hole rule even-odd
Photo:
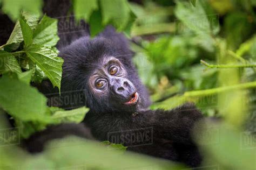
<svg viewBox="0 0 256 170">
<path fill-rule="evenodd" d="M 26 55 L 48 76 L 53 86 L 60 89 L 63 59 L 55 51 L 39 45 L 25 48 Z"/>
</svg>

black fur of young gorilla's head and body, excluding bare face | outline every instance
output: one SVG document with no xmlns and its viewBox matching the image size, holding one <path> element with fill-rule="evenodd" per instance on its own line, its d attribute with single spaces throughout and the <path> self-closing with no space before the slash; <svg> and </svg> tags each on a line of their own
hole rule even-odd
<svg viewBox="0 0 256 170">
<path fill-rule="evenodd" d="M 111 35 L 111 36 L 107 36 Z M 201 156 L 191 138 L 194 123 L 203 116 L 193 104 L 187 103 L 173 110 L 147 110 L 150 105 L 146 88 L 140 82 L 134 68 L 127 40 L 108 27 L 94 39 L 82 37 L 63 49 L 59 56 L 64 59 L 62 91 L 85 90 L 86 105 L 90 111 L 84 123 L 92 136 L 100 141 L 111 140 L 111 134 L 117 136 L 151 130 L 152 140 L 135 145 L 130 141 L 112 141 L 123 143 L 128 150 L 152 155 L 154 157 L 184 162 L 188 166 L 200 165 Z M 112 108 L 109 101 L 93 96 L 87 87 L 87 81 L 93 70 L 99 67 L 101 60 L 114 56 L 119 59 L 128 72 L 128 79 L 137 88 L 141 102 L 136 110 Z"/>
</svg>

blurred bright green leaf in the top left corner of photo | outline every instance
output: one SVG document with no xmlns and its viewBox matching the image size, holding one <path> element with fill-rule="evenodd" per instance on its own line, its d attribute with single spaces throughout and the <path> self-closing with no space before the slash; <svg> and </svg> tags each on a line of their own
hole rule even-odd
<svg viewBox="0 0 256 170">
<path fill-rule="evenodd" d="M 3 0 L 2 10 L 15 21 L 22 10 L 40 15 L 42 5 L 42 0 Z"/>
</svg>

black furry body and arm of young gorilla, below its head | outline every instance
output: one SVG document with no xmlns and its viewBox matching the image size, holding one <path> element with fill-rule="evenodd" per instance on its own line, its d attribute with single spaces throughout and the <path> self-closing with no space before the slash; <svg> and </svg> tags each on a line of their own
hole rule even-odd
<svg viewBox="0 0 256 170">
<path fill-rule="evenodd" d="M 187 103 L 173 110 L 138 111 L 135 115 L 129 112 L 104 112 L 102 115 L 95 115 L 89 111 L 84 122 L 90 127 L 93 137 L 101 141 L 111 141 L 112 133 L 118 137 L 136 132 L 142 135 L 150 129 L 152 142 L 145 141 L 139 146 L 131 141 L 123 144 L 130 146 L 130 151 L 196 167 L 201 163 L 201 155 L 192 140 L 191 131 L 194 123 L 201 118 L 203 116 L 200 111 L 193 104 Z"/>
</svg>

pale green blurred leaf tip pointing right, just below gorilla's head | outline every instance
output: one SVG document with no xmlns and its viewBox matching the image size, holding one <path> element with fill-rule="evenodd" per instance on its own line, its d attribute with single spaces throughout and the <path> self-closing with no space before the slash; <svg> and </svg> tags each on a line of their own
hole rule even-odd
<svg viewBox="0 0 256 170">
<path fill-rule="evenodd" d="M 72 110 L 57 110 L 53 113 L 52 118 L 56 119 L 59 123 L 80 123 L 83 121 L 87 111 L 89 109 L 85 107 Z"/>
</svg>

